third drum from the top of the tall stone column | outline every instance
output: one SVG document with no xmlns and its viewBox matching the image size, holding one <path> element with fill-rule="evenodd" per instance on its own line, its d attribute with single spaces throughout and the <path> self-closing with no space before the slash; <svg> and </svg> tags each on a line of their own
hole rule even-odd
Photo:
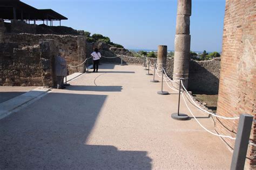
<svg viewBox="0 0 256 170">
<path fill-rule="evenodd" d="M 190 52 L 190 35 L 178 34 L 174 41 L 175 52 Z M 175 53 L 174 53 L 175 54 Z"/>
</svg>

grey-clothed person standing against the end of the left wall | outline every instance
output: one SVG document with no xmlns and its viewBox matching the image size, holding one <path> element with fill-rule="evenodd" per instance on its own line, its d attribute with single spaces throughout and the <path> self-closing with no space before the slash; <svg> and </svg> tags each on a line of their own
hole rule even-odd
<svg viewBox="0 0 256 170">
<path fill-rule="evenodd" d="M 64 89 L 64 77 L 67 75 L 67 65 L 64 58 L 64 49 L 59 49 L 58 55 L 55 57 L 55 72 L 57 76 L 57 89 Z"/>
</svg>

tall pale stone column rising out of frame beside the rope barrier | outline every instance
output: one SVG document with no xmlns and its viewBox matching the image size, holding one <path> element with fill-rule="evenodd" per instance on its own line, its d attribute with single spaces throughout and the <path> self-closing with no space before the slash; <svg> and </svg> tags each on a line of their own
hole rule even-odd
<svg viewBox="0 0 256 170">
<path fill-rule="evenodd" d="M 191 0 L 178 0 L 173 80 L 184 79 L 185 88 L 187 88 L 190 63 L 190 16 Z M 174 86 L 178 88 L 179 83 L 175 83 Z"/>
</svg>

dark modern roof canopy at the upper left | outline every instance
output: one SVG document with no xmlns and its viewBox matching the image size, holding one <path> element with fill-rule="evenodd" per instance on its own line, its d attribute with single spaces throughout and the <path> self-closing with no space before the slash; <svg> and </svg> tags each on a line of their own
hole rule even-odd
<svg viewBox="0 0 256 170">
<path fill-rule="evenodd" d="M 19 0 L 0 0 L 0 18 L 51 21 L 68 19 L 51 9 L 36 9 Z"/>
</svg>

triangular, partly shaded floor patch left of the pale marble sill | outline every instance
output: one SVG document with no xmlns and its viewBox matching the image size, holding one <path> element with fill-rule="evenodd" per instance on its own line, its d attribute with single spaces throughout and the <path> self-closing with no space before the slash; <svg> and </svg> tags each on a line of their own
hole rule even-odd
<svg viewBox="0 0 256 170">
<path fill-rule="evenodd" d="M 0 86 L 0 103 L 10 100 L 11 98 L 22 95 L 32 89 L 35 86 L 21 87 L 21 86 Z"/>
</svg>

